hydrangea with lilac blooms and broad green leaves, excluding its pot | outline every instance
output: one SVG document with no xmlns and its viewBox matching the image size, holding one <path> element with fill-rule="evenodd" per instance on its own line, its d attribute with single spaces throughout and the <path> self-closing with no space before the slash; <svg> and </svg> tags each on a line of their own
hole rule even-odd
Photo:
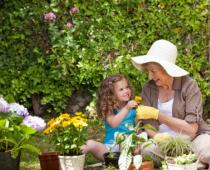
<svg viewBox="0 0 210 170">
<path fill-rule="evenodd" d="M 22 149 L 39 153 L 31 139 L 45 125 L 43 119 L 30 116 L 24 106 L 0 97 L 0 152 L 10 152 L 14 158 Z"/>
</svg>

